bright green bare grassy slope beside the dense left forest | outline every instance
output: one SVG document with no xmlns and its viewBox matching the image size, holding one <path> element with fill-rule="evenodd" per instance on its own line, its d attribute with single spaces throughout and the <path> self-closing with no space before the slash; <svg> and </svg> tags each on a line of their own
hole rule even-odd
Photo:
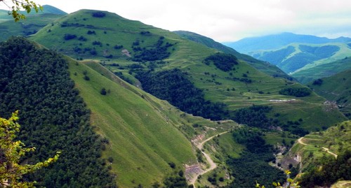
<svg viewBox="0 0 351 188">
<path fill-rule="evenodd" d="M 114 159 L 120 187 L 150 187 L 171 173 L 169 162 L 180 168 L 194 162 L 190 141 L 176 128 L 180 122 L 168 117 L 170 109 L 175 110 L 168 103 L 123 87 L 125 82 L 109 80 L 84 63 L 71 62 L 69 71 L 91 109 L 93 125 L 110 140 L 106 154 Z M 84 80 L 84 71 L 90 80 Z M 100 94 L 102 87 L 108 90 L 106 95 Z"/>
</svg>

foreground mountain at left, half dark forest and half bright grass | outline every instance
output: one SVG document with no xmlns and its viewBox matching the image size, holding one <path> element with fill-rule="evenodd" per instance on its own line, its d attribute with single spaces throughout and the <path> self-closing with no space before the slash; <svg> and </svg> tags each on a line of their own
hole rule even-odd
<svg viewBox="0 0 351 188">
<path fill-rule="evenodd" d="M 98 62 L 76 62 L 25 38 L 1 43 L 0 52 L 1 117 L 20 110 L 20 140 L 37 147 L 34 159 L 62 150 L 58 163 L 29 176 L 41 186 L 185 182 L 178 172 L 197 164 L 190 140 L 237 126 L 183 113 Z"/>
</svg>

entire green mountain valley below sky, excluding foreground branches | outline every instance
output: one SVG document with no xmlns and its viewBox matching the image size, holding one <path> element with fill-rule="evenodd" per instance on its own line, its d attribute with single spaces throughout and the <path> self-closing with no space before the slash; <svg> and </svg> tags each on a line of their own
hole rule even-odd
<svg viewBox="0 0 351 188">
<path fill-rule="evenodd" d="M 282 170 L 304 187 L 350 179 L 350 38 L 284 33 L 233 49 L 103 10 L 44 9 L 22 23 L 0 11 L 0 117 L 20 110 L 19 139 L 37 147 L 23 162 L 62 151 L 25 180 L 273 187 Z"/>
</svg>

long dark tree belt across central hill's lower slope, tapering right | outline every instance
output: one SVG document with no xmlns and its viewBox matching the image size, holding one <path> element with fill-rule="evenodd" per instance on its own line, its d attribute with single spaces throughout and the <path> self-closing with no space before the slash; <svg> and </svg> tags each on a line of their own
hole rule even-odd
<svg viewBox="0 0 351 188">
<path fill-rule="evenodd" d="M 143 85 L 143 89 L 150 94 L 164 99 L 173 106 L 186 113 L 197 115 L 211 120 L 234 120 L 240 124 L 247 124 L 261 129 L 270 129 L 281 126 L 285 131 L 291 131 L 304 136 L 305 131 L 300 122 L 288 121 L 285 124 L 276 118 L 267 117 L 272 107 L 250 106 L 239 110 L 227 110 L 225 103 L 213 103 L 204 99 L 204 92 L 194 86 L 187 79 L 187 74 L 179 69 L 166 71 L 136 71 L 135 76 Z"/>
</svg>

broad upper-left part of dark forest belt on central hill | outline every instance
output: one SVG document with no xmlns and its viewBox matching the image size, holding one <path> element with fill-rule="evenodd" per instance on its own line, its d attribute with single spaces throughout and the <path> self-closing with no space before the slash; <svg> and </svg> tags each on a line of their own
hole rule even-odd
<svg viewBox="0 0 351 188">
<path fill-rule="evenodd" d="M 211 120 L 223 120 L 227 116 L 224 103 L 211 103 L 204 99 L 201 89 L 194 87 L 179 69 L 169 71 L 140 72 L 136 78 L 143 84 L 143 89 L 150 94 L 164 99 L 186 113 Z"/>
</svg>

